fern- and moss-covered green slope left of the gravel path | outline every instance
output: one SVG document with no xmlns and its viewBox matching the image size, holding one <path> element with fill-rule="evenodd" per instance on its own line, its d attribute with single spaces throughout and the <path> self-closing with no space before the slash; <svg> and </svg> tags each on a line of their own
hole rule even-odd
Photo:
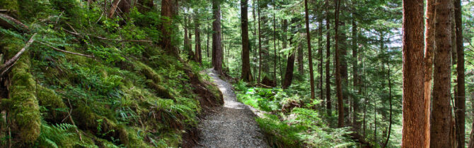
<svg viewBox="0 0 474 148">
<path fill-rule="evenodd" d="M 28 3 L 46 9 L 21 19 L 38 35 L 8 73 L 0 147 L 180 147 L 209 105 L 195 85 L 221 104 L 199 64 L 164 54 L 156 42 L 98 38 L 156 41 L 158 12 L 134 8 L 125 18 L 106 18 L 96 2 L 90 9 L 72 0 Z M 13 57 L 31 35 L 0 27 L 0 54 Z"/>
</svg>

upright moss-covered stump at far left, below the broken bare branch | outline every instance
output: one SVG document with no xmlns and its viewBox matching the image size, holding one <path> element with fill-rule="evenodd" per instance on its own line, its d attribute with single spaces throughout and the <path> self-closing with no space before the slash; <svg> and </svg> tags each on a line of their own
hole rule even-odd
<svg viewBox="0 0 474 148">
<path fill-rule="evenodd" d="M 8 40 L 8 39 L 7 39 Z M 13 39 L 15 42 L 18 39 Z M 16 54 L 23 44 L 6 44 L 8 58 Z M 11 85 L 9 97 L 11 99 L 11 119 L 16 124 L 16 133 L 23 144 L 35 142 L 41 131 L 40 106 L 35 97 L 35 81 L 30 74 L 30 57 L 28 51 L 18 59 L 9 73 Z"/>
</svg>

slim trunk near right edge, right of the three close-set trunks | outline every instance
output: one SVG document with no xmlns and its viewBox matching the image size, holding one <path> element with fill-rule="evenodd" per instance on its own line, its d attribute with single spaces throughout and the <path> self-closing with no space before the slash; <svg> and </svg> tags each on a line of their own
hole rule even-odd
<svg viewBox="0 0 474 148">
<path fill-rule="evenodd" d="M 464 49 L 463 49 L 463 21 L 462 21 L 461 0 L 454 0 L 454 20 L 456 21 L 456 51 L 457 51 L 457 76 L 458 92 L 456 93 L 456 137 L 458 137 L 458 147 L 464 147 L 466 142 L 466 86 L 464 74 Z"/>
</svg>

